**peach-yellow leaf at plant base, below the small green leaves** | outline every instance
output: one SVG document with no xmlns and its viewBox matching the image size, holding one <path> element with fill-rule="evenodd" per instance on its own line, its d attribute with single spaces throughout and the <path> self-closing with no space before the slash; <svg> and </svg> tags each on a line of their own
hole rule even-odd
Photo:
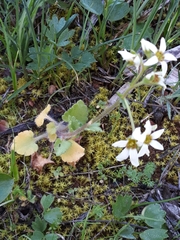
<svg viewBox="0 0 180 240">
<path fill-rule="evenodd" d="M 84 156 L 85 149 L 75 141 L 69 141 L 71 142 L 71 146 L 65 153 L 61 154 L 60 156 L 64 162 L 67 162 L 69 165 L 75 167 L 79 159 Z"/>
</svg>

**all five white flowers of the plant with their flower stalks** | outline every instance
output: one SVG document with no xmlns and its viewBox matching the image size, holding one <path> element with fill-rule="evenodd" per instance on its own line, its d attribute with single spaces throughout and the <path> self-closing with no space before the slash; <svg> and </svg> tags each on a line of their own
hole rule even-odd
<svg viewBox="0 0 180 240">
<path fill-rule="evenodd" d="M 167 62 L 177 61 L 177 59 L 172 54 L 166 52 L 166 42 L 163 37 L 160 40 L 159 49 L 145 39 L 141 40 L 141 47 L 147 57 L 145 60 L 143 60 L 138 53 L 128 52 L 127 50 L 118 51 L 123 60 L 136 68 L 137 76 L 133 79 L 131 87 L 135 89 L 141 85 L 161 85 L 165 89 L 166 85 L 164 83 L 164 77 L 168 69 Z M 156 71 L 158 64 L 161 65 L 161 71 Z M 152 66 L 154 66 L 152 72 L 146 73 L 146 70 Z M 123 97 L 124 99 L 126 98 L 126 96 Z M 126 103 L 125 100 L 124 103 Z M 155 131 L 157 125 L 152 126 L 148 120 L 144 126 L 145 131 L 141 133 L 140 127 L 134 127 L 131 111 L 127 104 L 126 109 L 133 129 L 132 135 L 127 140 L 120 140 L 113 143 L 112 146 L 124 148 L 123 151 L 116 157 L 118 161 L 123 161 L 129 157 L 132 165 L 137 167 L 139 166 L 139 157 L 142 157 L 145 154 L 149 156 L 149 146 L 158 150 L 164 149 L 163 146 L 156 141 L 156 139 L 162 135 L 164 129 Z"/>
</svg>

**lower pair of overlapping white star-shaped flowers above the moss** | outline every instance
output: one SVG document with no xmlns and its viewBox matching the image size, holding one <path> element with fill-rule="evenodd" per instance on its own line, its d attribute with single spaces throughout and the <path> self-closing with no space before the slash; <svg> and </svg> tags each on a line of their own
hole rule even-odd
<svg viewBox="0 0 180 240">
<path fill-rule="evenodd" d="M 130 157 L 131 164 L 135 167 L 139 166 L 139 157 L 145 154 L 149 156 L 149 145 L 155 149 L 163 150 L 163 146 L 156 140 L 159 138 L 164 129 L 157 129 L 157 125 L 151 125 L 148 120 L 145 124 L 145 131 L 141 133 L 140 127 L 135 128 L 132 135 L 127 140 L 120 140 L 112 144 L 113 147 L 124 148 L 124 150 L 116 157 L 117 161 L 123 161 Z M 139 151 L 139 152 L 138 152 Z"/>
</svg>

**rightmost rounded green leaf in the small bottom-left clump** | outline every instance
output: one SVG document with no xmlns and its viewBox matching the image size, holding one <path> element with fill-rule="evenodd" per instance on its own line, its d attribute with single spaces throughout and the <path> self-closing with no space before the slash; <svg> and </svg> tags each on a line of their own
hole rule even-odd
<svg viewBox="0 0 180 240">
<path fill-rule="evenodd" d="M 44 219 L 50 224 L 59 224 L 62 220 L 62 212 L 59 208 L 52 208 L 44 213 Z"/>
</svg>

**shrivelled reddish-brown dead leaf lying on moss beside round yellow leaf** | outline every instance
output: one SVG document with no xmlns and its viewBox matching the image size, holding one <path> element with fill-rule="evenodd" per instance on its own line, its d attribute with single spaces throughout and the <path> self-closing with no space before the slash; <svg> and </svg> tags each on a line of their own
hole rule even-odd
<svg viewBox="0 0 180 240">
<path fill-rule="evenodd" d="M 48 158 L 43 158 L 37 152 L 31 155 L 31 166 L 35 169 L 38 173 L 42 172 L 44 165 L 46 164 L 54 164 L 53 161 L 49 160 Z"/>
</svg>

